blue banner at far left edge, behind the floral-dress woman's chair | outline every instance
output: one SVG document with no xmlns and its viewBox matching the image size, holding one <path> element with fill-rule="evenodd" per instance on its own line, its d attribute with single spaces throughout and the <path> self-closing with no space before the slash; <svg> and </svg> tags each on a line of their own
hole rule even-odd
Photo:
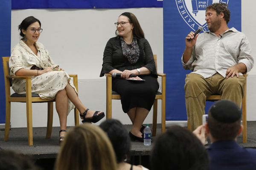
<svg viewBox="0 0 256 170">
<path fill-rule="evenodd" d="M 1 0 L 0 5 L 0 57 L 11 55 L 11 0 Z M 5 123 L 5 85 L 3 64 L 0 62 L 0 124 Z"/>
</svg>

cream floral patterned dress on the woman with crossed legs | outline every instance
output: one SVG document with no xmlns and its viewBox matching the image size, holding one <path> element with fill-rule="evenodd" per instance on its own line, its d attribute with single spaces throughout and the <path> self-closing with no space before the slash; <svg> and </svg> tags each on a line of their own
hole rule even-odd
<svg viewBox="0 0 256 170">
<path fill-rule="evenodd" d="M 15 76 L 16 71 L 21 68 L 30 69 L 33 65 L 39 68 L 58 67 L 49 52 L 39 42 L 35 42 L 35 47 L 38 50 L 37 56 L 32 50 L 22 41 L 12 49 L 9 59 L 10 75 Z M 65 71 L 51 71 L 39 76 L 31 78 L 32 93 L 38 94 L 42 99 L 55 99 L 58 91 L 63 90 L 69 83 L 76 91 L 76 88 L 71 81 L 71 78 Z M 26 93 L 26 81 L 21 79 L 12 79 L 12 89 L 17 94 Z M 77 93 L 77 91 L 76 91 Z M 75 105 L 68 99 L 68 113 L 75 108 Z"/>
</svg>

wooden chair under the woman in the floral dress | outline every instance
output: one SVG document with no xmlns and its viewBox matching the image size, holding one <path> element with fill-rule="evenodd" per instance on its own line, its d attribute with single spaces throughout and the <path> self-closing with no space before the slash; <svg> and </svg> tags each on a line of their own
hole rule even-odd
<svg viewBox="0 0 256 170">
<path fill-rule="evenodd" d="M 46 138 L 50 138 L 52 134 L 52 119 L 53 119 L 53 102 L 50 99 L 41 99 L 38 94 L 32 94 L 31 88 L 31 77 L 29 76 L 9 76 L 9 58 L 2 57 L 3 60 L 3 72 L 4 82 L 6 91 L 6 123 L 4 132 L 4 141 L 8 141 L 10 120 L 11 120 L 11 102 L 26 102 L 26 116 L 27 116 L 27 129 L 28 129 L 28 141 L 29 145 L 33 145 L 33 132 L 32 132 L 32 103 L 35 102 L 47 102 L 48 103 L 48 114 L 47 114 L 47 132 Z M 76 74 L 69 74 L 73 77 L 73 83 L 78 91 L 78 81 Z M 12 79 L 26 79 L 26 94 L 12 94 L 10 87 L 12 86 Z M 75 108 L 75 125 L 79 125 L 79 111 Z"/>
</svg>

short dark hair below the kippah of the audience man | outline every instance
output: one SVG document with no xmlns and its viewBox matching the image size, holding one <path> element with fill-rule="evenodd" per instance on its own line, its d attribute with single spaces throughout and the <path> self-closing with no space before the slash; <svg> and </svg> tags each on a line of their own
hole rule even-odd
<svg viewBox="0 0 256 170">
<path fill-rule="evenodd" d="M 232 114 L 232 113 L 230 113 Z M 219 122 L 212 117 L 211 112 L 208 112 L 208 127 L 212 137 L 216 140 L 234 140 L 238 135 L 241 118 L 233 123 Z"/>
</svg>

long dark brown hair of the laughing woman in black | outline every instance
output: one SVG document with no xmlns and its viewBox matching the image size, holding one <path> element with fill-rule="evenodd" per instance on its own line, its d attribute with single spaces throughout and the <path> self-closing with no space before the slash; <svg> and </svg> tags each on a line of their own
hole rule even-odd
<svg viewBox="0 0 256 170">
<path fill-rule="evenodd" d="M 144 32 L 140 26 L 139 21 L 137 20 L 137 17 L 135 17 L 134 14 L 132 14 L 131 12 L 124 12 L 122 13 L 120 16 L 125 16 L 128 19 L 128 22 L 130 23 L 126 23 L 126 24 L 132 24 L 133 28 L 132 28 L 132 33 L 135 37 L 137 38 L 145 38 L 144 36 Z M 120 17 L 119 16 L 119 17 Z M 119 37 L 119 32 L 116 29 L 116 36 Z"/>
</svg>

